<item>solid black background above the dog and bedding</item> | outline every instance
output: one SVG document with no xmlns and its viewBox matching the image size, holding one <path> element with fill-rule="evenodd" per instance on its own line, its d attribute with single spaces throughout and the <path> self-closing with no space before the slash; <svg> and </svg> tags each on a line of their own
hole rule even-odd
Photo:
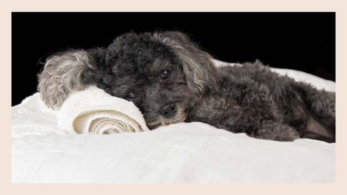
<svg viewBox="0 0 347 195">
<path fill-rule="evenodd" d="M 335 12 L 12 13 L 12 106 L 35 93 L 46 58 L 107 47 L 129 31 L 179 30 L 216 59 L 260 59 L 335 81 Z"/>
</svg>

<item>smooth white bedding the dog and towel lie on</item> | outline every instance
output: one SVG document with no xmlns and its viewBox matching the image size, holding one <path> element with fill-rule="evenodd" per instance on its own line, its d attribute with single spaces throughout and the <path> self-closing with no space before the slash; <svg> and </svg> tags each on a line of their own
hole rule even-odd
<svg viewBox="0 0 347 195">
<path fill-rule="evenodd" d="M 335 82 L 273 70 L 335 91 Z M 12 183 L 334 182 L 335 143 L 259 140 L 201 122 L 139 133 L 67 134 L 39 93 L 12 107 Z"/>
</svg>

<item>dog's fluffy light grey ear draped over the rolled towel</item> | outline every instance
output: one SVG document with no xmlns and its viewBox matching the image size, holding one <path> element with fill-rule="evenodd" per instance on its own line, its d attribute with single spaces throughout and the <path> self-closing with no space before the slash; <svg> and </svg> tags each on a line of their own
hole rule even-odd
<svg viewBox="0 0 347 195">
<path fill-rule="evenodd" d="M 47 107 L 58 109 L 70 92 L 93 83 L 101 50 L 69 50 L 47 58 L 38 75 L 38 91 Z"/>
</svg>

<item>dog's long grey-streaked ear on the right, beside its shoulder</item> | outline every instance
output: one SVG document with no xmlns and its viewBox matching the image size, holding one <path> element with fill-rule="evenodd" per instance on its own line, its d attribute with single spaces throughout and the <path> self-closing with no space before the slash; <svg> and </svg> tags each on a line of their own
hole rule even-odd
<svg viewBox="0 0 347 195">
<path fill-rule="evenodd" d="M 181 32 L 166 31 L 157 35 L 179 57 L 188 87 L 198 95 L 216 88 L 216 67 L 206 51 Z"/>
</svg>

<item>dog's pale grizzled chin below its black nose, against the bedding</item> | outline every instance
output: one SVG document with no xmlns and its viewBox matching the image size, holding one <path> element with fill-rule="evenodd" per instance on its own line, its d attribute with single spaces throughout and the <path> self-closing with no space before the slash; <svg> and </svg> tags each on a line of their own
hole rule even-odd
<svg viewBox="0 0 347 195">
<path fill-rule="evenodd" d="M 146 119 L 146 123 L 149 129 L 155 129 L 159 126 L 165 126 L 177 122 L 183 122 L 187 118 L 187 113 L 184 112 L 184 109 L 177 108 L 176 114 L 171 118 L 166 118 L 160 114 L 157 114 L 154 117 Z"/>
</svg>

